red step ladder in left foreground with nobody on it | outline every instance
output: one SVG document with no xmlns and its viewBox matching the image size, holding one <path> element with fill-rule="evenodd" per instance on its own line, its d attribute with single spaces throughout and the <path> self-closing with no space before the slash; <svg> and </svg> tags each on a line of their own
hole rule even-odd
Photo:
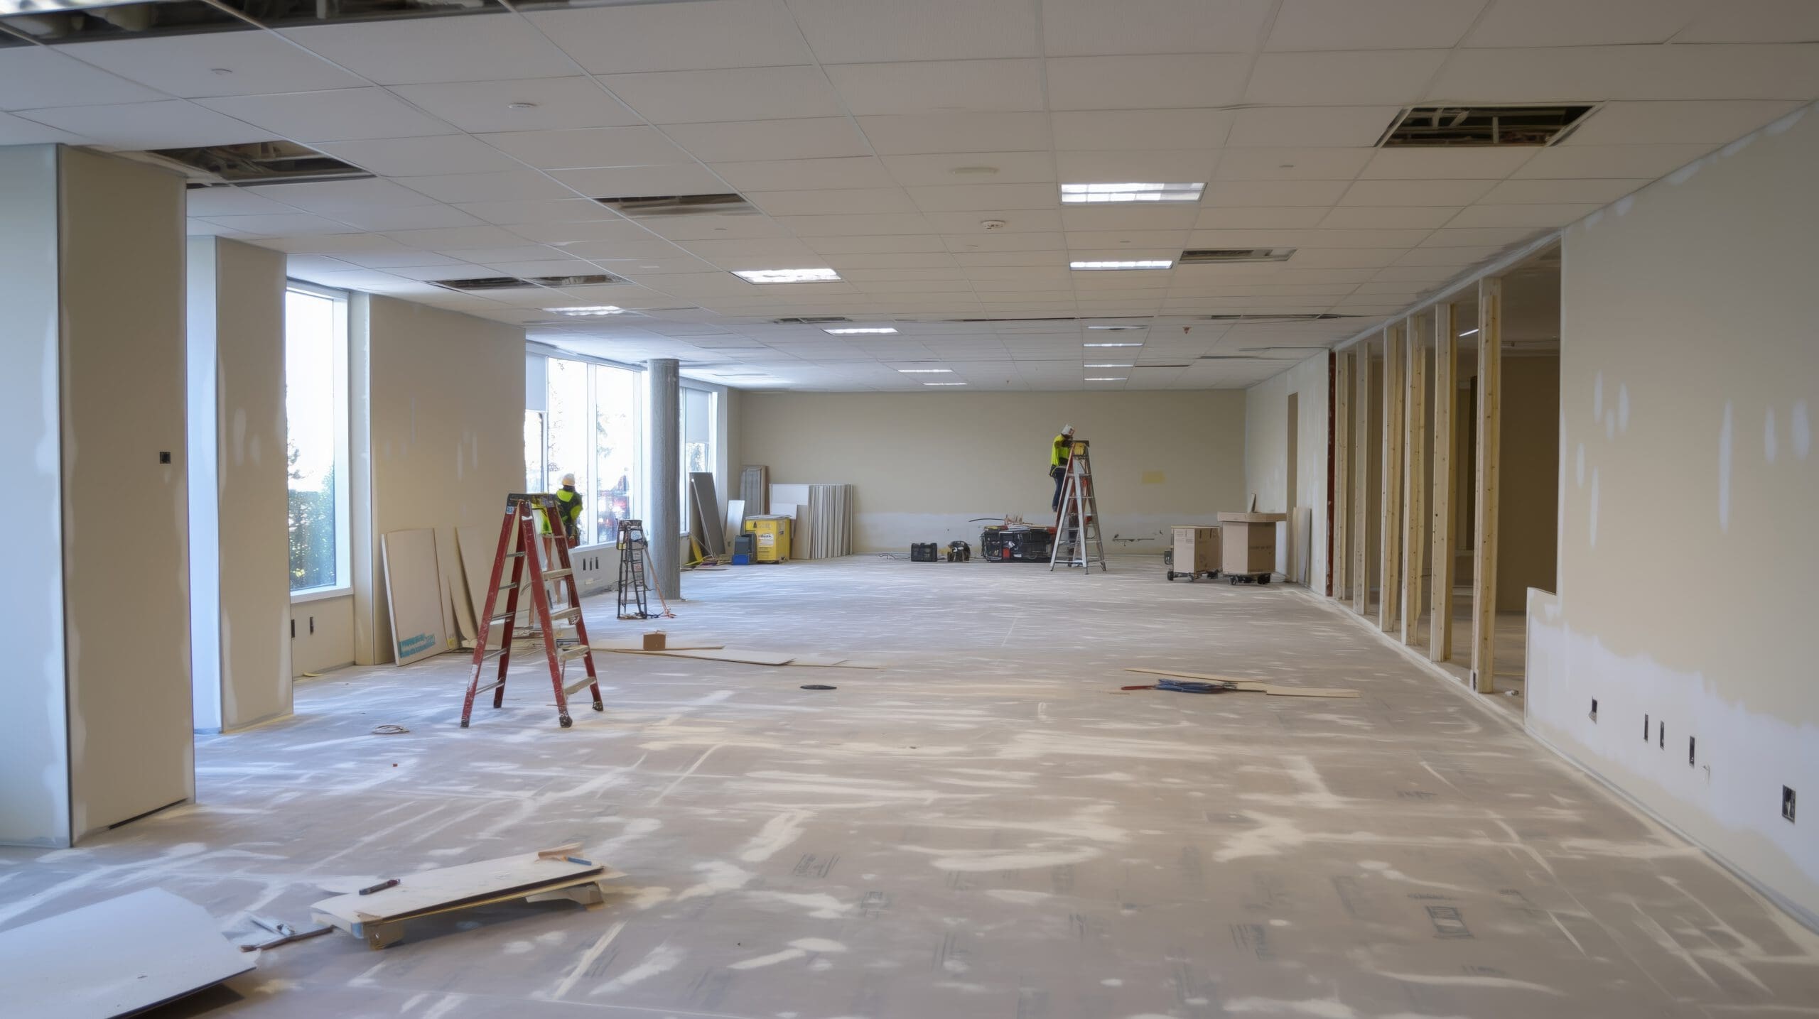
<svg viewBox="0 0 1819 1019">
<path fill-rule="evenodd" d="M 551 554 L 555 569 L 546 570 L 538 554 L 537 514 L 542 514 L 542 521 L 549 530 L 549 543 L 555 547 Z M 515 552 L 511 550 L 513 532 L 518 536 L 518 550 Z M 511 579 L 502 589 L 500 579 L 506 576 L 508 559 L 511 561 Z M 568 594 L 568 608 L 558 612 L 549 610 L 551 583 L 566 585 L 562 590 Z M 582 687 L 593 692 L 593 710 L 606 710 L 606 705 L 600 703 L 600 678 L 593 670 L 593 648 L 588 647 L 588 623 L 580 616 L 575 567 L 568 556 L 568 527 L 562 523 L 562 503 L 548 492 L 513 492 L 506 496 L 506 518 L 498 525 L 498 550 L 493 554 L 493 576 L 486 583 L 486 610 L 480 612 L 480 634 L 473 645 L 473 679 L 467 681 L 467 697 L 460 707 L 462 728 L 467 728 L 467 719 L 473 716 L 473 699 L 478 694 L 493 690 L 495 708 L 506 701 L 506 670 L 511 667 L 511 627 L 518 616 L 518 592 L 524 589 L 531 590 L 531 605 L 537 608 L 537 625 L 544 638 L 544 656 L 549 659 L 549 683 L 557 692 L 557 719 L 562 723 L 562 728 L 575 725 L 575 719 L 568 714 L 568 697 Z M 498 605 L 500 590 L 506 592 L 504 608 Z M 558 647 L 557 623 L 575 623 L 578 643 Z M 489 638 L 495 625 L 504 627 L 497 652 L 498 674 L 493 683 L 482 687 L 480 672 L 486 667 L 486 658 L 493 654 L 487 650 L 487 643 L 491 643 Z M 564 687 L 562 672 L 577 658 L 586 665 L 588 676 L 578 683 Z"/>
</svg>

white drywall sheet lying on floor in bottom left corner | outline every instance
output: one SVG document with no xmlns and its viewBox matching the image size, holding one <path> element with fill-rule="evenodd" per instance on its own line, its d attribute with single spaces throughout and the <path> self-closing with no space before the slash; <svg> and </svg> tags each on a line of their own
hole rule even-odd
<svg viewBox="0 0 1819 1019">
<path fill-rule="evenodd" d="M 0 1012 L 111 1019 L 253 970 L 207 910 L 162 888 L 0 932 Z"/>
</svg>

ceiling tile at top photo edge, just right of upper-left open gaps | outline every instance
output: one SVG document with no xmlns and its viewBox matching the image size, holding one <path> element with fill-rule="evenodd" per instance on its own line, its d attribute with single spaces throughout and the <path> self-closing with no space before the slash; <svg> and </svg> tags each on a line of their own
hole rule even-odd
<svg viewBox="0 0 1819 1019">
<path fill-rule="evenodd" d="M 629 4 L 533 11 L 528 18 L 600 74 L 813 62 L 782 0 Z"/>
</svg>

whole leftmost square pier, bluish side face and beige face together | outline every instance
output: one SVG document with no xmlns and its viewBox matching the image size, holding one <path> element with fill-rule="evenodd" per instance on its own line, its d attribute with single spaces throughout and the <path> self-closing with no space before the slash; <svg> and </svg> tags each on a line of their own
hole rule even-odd
<svg viewBox="0 0 1819 1019">
<path fill-rule="evenodd" d="M 182 178 L 0 149 L 0 843 L 62 846 L 195 796 Z"/>
</svg>

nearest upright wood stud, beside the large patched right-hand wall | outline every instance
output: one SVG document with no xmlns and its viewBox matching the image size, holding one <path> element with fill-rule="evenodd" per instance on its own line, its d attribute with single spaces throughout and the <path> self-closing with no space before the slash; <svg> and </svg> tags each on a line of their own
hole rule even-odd
<svg viewBox="0 0 1819 1019">
<path fill-rule="evenodd" d="M 1472 567 L 1472 685 L 1495 694 L 1497 452 L 1502 416 L 1502 280 L 1479 280 L 1477 503 Z"/>
</svg>

